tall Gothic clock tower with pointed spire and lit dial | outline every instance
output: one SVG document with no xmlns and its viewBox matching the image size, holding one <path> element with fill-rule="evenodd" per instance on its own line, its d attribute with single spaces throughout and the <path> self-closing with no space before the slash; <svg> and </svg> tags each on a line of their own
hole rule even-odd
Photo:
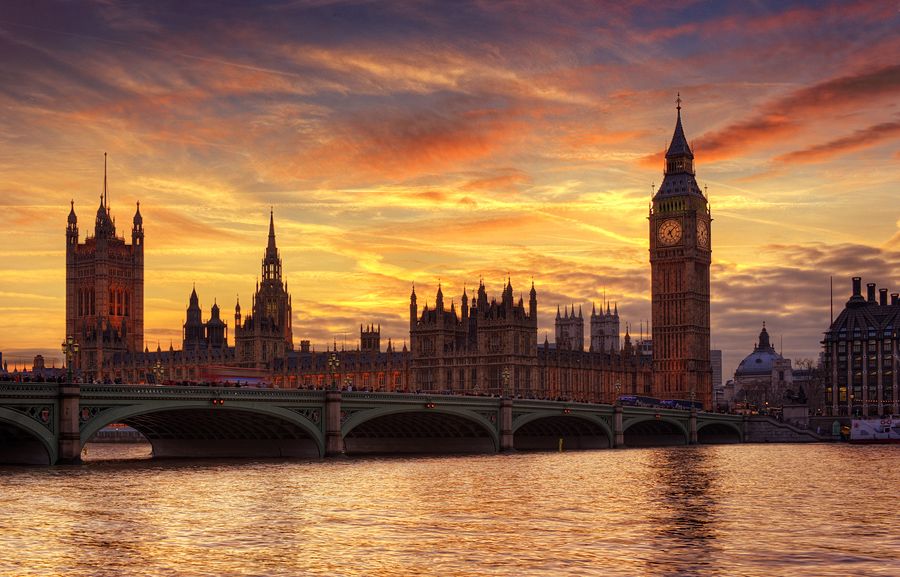
<svg viewBox="0 0 900 577">
<path fill-rule="evenodd" d="M 709 408 L 709 205 L 697 186 L 694 153 L 681 127 L 681 98 L 662 185 L 650 208 L 653 389 L 661 399 Z"/>
</svg>

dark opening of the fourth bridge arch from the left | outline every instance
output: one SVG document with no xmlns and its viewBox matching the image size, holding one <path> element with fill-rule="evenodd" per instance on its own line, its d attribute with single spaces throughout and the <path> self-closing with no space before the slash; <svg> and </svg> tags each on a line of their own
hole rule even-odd
<svg viewBox="0 0 900 577">
<path fill-rule="evenodd" d="M 535 411 L 512 424 L 513 447 L 520 451 L 605 449 L 613 445 L 612 429 L 603 418 L 559 410 Z"/>
</svg>

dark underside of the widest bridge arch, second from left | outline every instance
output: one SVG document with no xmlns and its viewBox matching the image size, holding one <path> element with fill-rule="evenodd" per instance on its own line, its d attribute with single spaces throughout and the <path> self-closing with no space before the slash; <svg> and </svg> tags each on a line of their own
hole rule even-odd
<svg viewBox="0 0 900 577">
<path fill-rule="evenodd" d="M 124 423 L 153 446 L 154 457 L 322 457 L 324 435 L 283 407 L 170 401 L 106 409 L 81 431 L 82 446 L 103 427 Z"/>
</svg>

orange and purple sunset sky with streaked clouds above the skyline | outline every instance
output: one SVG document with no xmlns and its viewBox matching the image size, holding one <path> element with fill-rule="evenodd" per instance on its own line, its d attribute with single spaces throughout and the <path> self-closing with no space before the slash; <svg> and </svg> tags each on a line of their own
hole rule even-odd
<svg viewBox="0 0 900 577">
<path fill-rule="evenodd" d="M 708 186 L 725 378 L 766 321 L 818 353 L 850 277 L 900 290 L 900 4 L 4 2 L 0 351 L 59 364 L 65 226 L 109 153 L 146 231 L 145 334 L 180 346 L 193 283 L 232 324 L 274 208 L 295 341 L 408 339 L 408 299 L 532 277 L 650 317 L 648 202 L 675 96 Z M 246 307 L 245 307 L 246 310 Z"/>
</svg>

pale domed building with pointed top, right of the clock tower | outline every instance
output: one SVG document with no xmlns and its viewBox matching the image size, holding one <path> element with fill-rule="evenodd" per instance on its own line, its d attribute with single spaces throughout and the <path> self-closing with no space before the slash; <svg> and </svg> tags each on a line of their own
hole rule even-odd
<svg viewBox="0 0 900 577">
<path fill-rule="evenodd" d="M 784 392 L 792 383 L 791 359 L 781 356 L 772 346 L 764 322 L 753 352 L 744 357 L 734 372 L 734 388 L 726 389 L 726 399 L 731 406 L 742 403 L 758 410 L 780 407 Z"/>
</svg>

